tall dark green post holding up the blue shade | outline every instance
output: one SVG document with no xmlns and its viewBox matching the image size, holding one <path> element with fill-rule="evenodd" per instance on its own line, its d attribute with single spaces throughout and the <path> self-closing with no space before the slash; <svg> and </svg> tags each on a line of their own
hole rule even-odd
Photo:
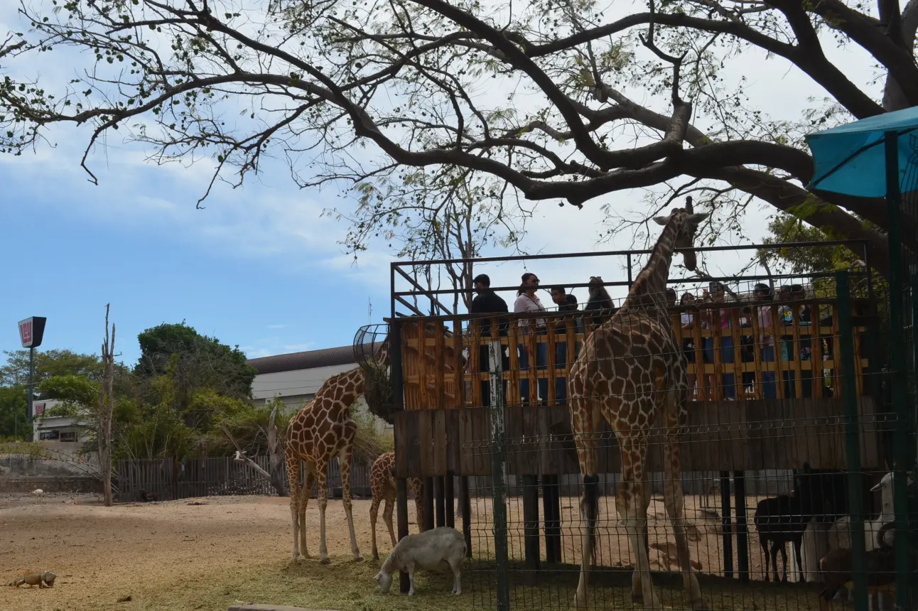
<svg viewBox="0 0 918 611">
<path fill-rule="evenodd" d="M 886 132 L 886 209 L 890 250 L 890 384 L 892 409 L 896 424 L 892 432 L 893 479 L 892 499 L 896 516 L 896 535 L 901 541 L 910 540 L 908 534 L 908 423 L 909 397 L 906 372 L 908 363 L 905 345 L 902 342 L 902 239 L 901 239 L 901 193 L 899 191 L 899 134 Z M 896 546 L 896 605 L 911 608 L 909 581 L 909 548 Z"/>
</svg>

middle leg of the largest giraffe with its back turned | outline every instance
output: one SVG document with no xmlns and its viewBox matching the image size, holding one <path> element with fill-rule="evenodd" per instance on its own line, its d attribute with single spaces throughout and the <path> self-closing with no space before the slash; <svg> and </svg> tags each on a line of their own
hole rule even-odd
<svg viewBox="0 0 918 611">
<path fill-rule="evenodd" d="M 618 431 L 617 431 L 618 432 Z M 634 571 L 641 580 L 641 599 L 645 609 L 662 609 L 650 577 L 647 553 L 647 510 L 644 506 L 644 465 L 647 456 L 645 431 L 619 432 L 621 447 L 621 485 L 615 499 L 619 519 L 628 532 L 634 554 Z"/>
</svg>

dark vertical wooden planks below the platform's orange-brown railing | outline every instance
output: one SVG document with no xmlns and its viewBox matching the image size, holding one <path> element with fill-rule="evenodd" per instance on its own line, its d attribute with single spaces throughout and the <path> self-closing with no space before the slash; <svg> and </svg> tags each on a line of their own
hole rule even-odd
<svg viewBox="0 0 918 611">
<path fill-rule="evenodd" d="M 882 469 L 874 402 L 860 397 L 861 464 Z M 845 469 L 844 406 L 835 399 L 696 401 L 682 439 L 682 472 Z M 507 407 L 507 459 L 511 475 L 579 472 L 563 405 Z M 490 408 L 407 410 L 395 422 L 396 476 L 431 477 L 453 472 L 490 475 Z M 651 472 L 662 472 L 658 429 L 650 440 Z M 614 434 L 604 423 L 593 443 L 597 471 L 619 472 Z"/>
</svg>

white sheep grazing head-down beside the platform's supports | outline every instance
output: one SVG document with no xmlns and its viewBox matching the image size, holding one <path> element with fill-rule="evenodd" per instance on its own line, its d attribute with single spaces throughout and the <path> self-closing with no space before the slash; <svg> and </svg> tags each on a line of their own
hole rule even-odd
<svg viewBox="0 0 918 611">
<path fill-rule="evenodd" d="M 396 543 L 376 573 L 379 590 L 386 594 L 392 586 L 392 575 L 407 571 L 411 583 L 408 594 L 414 595 L 414 571 L 445 572 L 453 570 L 453 594 L 462 594 L 459 569 L 465 558 L 465 537 L 455 528 L 441 527 L 409 535 Z"/>
</svg>

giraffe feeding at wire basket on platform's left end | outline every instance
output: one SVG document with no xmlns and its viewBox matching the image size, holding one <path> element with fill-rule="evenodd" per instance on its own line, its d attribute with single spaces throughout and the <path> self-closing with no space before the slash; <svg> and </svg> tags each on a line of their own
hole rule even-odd
<svg viewBox="0 0 918 611">
<path fill-rule="evenodd" d="M 424 327 L 425 334 L 431 333 L 432 323 L 426 323 Z M 442 329 L 447 337 L 452 335 L 449 329 Z M 447 344 L 444 352 L 444 361 L 450 362 L 455 353 L 452 345 Z M 375 349 L 372 360 L 382 367 L 389 366 L 388 337 Z M 344 515 L 347 518 L 353 560 L 357 562 L 363 560 L 357 548 L 351 503 L 351 457 L 353 439 L 357 432 L 357 425 L 351 418 L 351 405 L 357 397 L 364 394 L 364 382 L 363 365 L 332 375 L 322 383 L 313 399 L 307 405 L 303 405 L 287 425 L 284 457 L 287 483 L 290 486 L 293 561 L 299 559 L 300 550 L 304 558 L 309 558 L 306 544 L 306 509 L 312 484 L 318 483 L 319 562 L 329 563 L 328 548 L 325 543 L 325 509 L 329 503 L 326 480 L 329 461 L 335 456 L 338 457 L 341 469 L 341 503 L 344 505 Z M 301 463 L 306 468 L 302 486 L 299 484 Z"/>
</svg>

